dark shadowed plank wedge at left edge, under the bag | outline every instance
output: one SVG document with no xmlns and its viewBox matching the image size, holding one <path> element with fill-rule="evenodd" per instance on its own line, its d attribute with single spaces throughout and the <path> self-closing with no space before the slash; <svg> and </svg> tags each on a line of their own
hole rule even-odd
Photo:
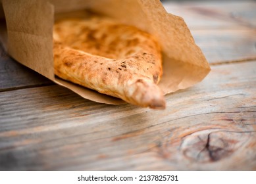
<svg viewBox="0 0 256 184">
<path fill-rule="evenodd" d="M 0 43 L 0 91 L 51 85 L 53 82 L 9 57 Z"/>
</svg>

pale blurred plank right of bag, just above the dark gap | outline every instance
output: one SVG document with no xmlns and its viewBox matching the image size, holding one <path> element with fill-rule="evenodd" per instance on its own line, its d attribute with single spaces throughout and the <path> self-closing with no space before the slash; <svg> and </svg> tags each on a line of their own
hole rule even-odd
<svg viewBox="0 0 256 184">
<path fill-rule="evenodd" d="M 256 30 L 192 30 L 210 64 L 256 59 Z"/>
</svg>

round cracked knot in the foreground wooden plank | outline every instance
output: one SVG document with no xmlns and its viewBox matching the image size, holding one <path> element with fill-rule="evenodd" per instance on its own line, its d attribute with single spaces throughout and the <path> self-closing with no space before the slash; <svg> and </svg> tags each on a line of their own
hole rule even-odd
<svg viewBox="0 0 256 184">
<path fill-rule="evenodd" d="M 228 130 L 203 130 L 184 137 L 183 155 L 197 162 L 216 162 L 238 151 L 247 141 L 247 133 Z"/>
</svg>

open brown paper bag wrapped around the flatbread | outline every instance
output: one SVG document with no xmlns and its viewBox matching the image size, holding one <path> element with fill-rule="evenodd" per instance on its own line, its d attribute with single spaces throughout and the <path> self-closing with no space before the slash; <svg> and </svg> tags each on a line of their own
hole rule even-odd
<svg viewBox="0 0 256 184">
<path fill-rule="evenodd" d="M 159 87 L 165 94 L 198 83 L 210 71 L 184 20 L 168 14 L 158 0 L 2 0 L 2 5 L 9 55 L 91 101 L 124 103 L 115 97 L 55 78 L 53 24 L 55 17 L 64 12 L 98 12 L 155 35 L 163 49 L 163 77 Z M 1 14 L 3 16 L 0 9 Z"/>
</svg>

